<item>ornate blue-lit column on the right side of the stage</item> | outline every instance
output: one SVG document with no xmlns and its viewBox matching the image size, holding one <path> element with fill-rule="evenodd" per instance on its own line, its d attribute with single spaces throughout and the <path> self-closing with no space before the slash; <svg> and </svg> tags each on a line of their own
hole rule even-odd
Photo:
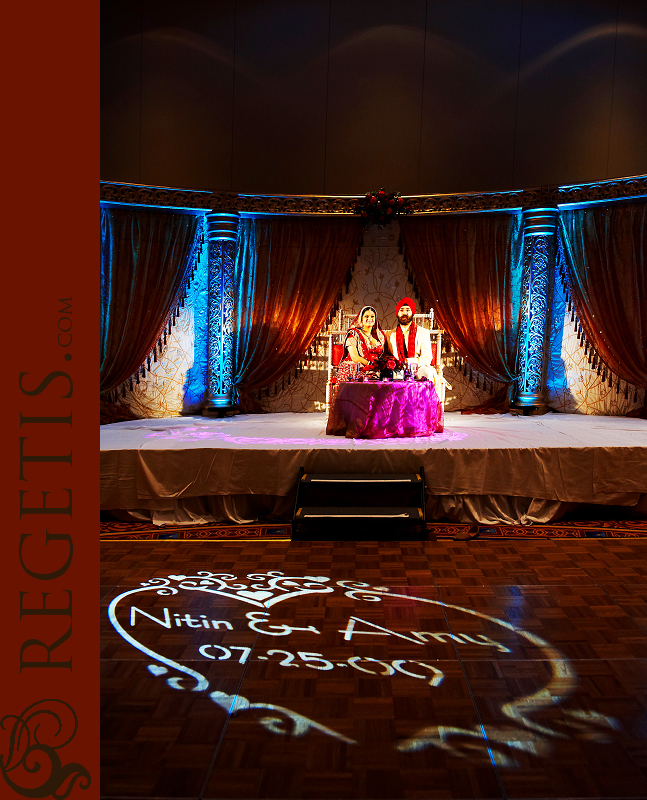
<svg viewBox="0 0 647 800">
<path fill-rule="evenodd" d="M 519 367 L 514 404 L 545 411 L 546 336 L 555 262 L 556 208 L 523 211 L 523 273 L 519 325 Z"/>
</svg>

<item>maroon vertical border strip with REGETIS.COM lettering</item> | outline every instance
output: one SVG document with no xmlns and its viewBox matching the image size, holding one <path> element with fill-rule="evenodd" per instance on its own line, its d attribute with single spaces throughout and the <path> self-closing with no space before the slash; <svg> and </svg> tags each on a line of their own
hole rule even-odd
<svg viewBox="0 0 647 800">
<path fill-rule="evenodd" d="M 70 798 L 98 798 L 99 4 L 11 3 L 3 29 L 0 796 L 49 797 L 71 781 Z M 71 463 L 21 461 L 21 438 L 23 456 Z"/>
</svg>

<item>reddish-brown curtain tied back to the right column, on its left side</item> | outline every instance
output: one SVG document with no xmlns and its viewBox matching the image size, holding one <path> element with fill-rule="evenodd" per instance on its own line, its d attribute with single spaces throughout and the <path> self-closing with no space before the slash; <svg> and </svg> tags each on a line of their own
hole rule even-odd
<svg viewBox="0 0 647 800">
<path fill-rule="evenodd" d="M 475 370 L 509 386 L 517 377 L 520 215 L 403 217 L 400 228 L 440 327 Z"/>
</svg>

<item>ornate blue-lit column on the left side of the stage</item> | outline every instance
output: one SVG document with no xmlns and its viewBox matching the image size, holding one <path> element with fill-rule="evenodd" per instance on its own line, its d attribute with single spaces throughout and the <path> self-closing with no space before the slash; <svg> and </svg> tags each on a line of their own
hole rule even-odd
<svg viewBox="0 0 647 800">
<path fill-rule="evenodd" d="M 238 238 L 238 214 L 207 214 L 209 254 L 209 311 L 207 339 L 207 391 L 202 404 L 204 416 L 222 417 L 234 408 L 234 263 Z"/>
</svg>

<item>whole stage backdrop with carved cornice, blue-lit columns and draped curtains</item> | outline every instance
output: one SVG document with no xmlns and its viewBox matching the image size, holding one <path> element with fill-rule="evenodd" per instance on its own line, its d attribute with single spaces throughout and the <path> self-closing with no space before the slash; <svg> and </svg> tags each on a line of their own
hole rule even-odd
<svg viewBox="0 0 647 800">
<path fill-rule="evenodd" d="M 448 410 L 644 415 L 647 179 L 407 198 L 102 183 L 102 399 L 135 417 L 319 410 L 339 307 L 433 307 Z"/>
</svg>

